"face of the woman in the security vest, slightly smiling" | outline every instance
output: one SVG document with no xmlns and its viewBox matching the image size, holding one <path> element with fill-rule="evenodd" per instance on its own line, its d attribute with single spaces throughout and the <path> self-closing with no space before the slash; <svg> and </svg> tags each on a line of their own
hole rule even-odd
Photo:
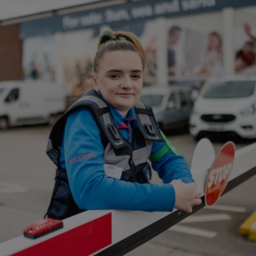
<svg viewBox="0 0 256 256">
<path fill-rule="evenodd" d="M 143 89 L 143 64 L 132 50 L 106 51 L 97 73 L 92 74 L 94 89 L 123 116 L 136 105 Z"/>
</svg>

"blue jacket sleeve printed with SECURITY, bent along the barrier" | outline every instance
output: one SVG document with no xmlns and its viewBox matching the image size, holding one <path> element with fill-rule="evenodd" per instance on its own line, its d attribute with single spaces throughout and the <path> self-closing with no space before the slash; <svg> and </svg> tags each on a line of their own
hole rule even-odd
<svg viewBox="0 0 256 256">
<path fill-rule="evenodd" d="M 171 184 L 139 184 L 105 175 L 100 131 L 88 109 L 69 115 L 61 147 L 74 201 L 81 209 L 173 211 Z"/>
</svg>

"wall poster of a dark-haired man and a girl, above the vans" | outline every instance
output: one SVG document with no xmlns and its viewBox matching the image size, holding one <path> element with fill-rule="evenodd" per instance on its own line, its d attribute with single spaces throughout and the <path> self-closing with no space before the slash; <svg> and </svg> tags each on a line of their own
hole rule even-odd
<svg viewBox="0 0 256 256">
<path fill-rule="evenodd" d="M 200 87 L 206 77 L 223 72 L 221 13 L 168 20 L 169 84 L 190 81 Z"/>
</svg>

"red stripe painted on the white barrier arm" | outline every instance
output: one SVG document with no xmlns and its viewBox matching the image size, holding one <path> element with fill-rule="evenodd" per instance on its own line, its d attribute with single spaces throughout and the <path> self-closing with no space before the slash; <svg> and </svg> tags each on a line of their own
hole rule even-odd
<svg viewBox="0 0 256 256">
<path fill-rule="evenodd" d="M 110 244 L 112 244 L 112 213 L 107 213 L 11 256 L 85 256 Z"/>
</svg>

